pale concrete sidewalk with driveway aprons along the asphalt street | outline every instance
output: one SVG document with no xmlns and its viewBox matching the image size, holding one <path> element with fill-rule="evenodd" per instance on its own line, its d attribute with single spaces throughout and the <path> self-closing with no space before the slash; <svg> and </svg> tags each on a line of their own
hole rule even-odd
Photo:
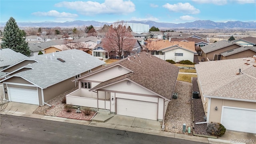
<svg viewBox="0 0 256 144">
<path fill-rule="evenodd" d="M 248 133 L 242 133 L 242 132 L 231 132 L 226 131 L 226 133 L 218 138 L 204 138 L 199 136 L 191 136 L 186 134 L 177 134 L 173 132 L 165 132 L 162 131 L 160 128 L 160 122 L 153 120 L 147 120 L 143 118 L 135 118 L 130 116 L 121 116 L 121 115 L 114 115 L 105 122 L 93 122 L 93 121 L 87 121 L 87 120 L 75 120 L 70 118 L 60 118 L 55 116 L 44 116 L 44 115 L 38 115 L 38 114 L 32 114 L 34 110 L 38 108 L 38 105 L 34 104 L 23 104 L 18 102 L 8 102 L 8 106 L 6 107 L 6 110 L 1 112 L 1 114 L 8 114 L 8 115 L 14 115 L 14 116 L 25 116 L 30 118 L 40 118 L 44 120 L 53 120 L 53 121 L 59 121 L 59 122 L 69 122 L 73 124 L 82 124 L 82 125 L 88 125 L 88 126 L 97 126 L 102 128 L 112 128 L 117 130 L 127 130 L 131 132 L 140 132 L 144 134 L 152 134 L 152 135 L 158 135 L 158 136 L 166 136 L 170 138 L 179 138 L 184 140 L 191 140 L 196 142 L 204 142 L 209 144 L 234 144 L 231 143 L 231 139 L 236 140 L 254 140 L 253 143 L 248 144 L 256 144 L 256 134 L 248 134 Z M 237 143 L 238 144 L 238 143 Z M 239 144 L 245 144 L 245 143 L 239 143 Z"/>
</svg>

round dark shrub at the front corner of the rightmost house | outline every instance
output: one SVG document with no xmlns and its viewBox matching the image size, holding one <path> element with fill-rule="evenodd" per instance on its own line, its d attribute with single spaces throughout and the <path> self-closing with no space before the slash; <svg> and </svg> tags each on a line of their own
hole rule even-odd
<svg viewBox="0 0 256 144">
<path fill-rule="evenodd" d="M 213 136 L 222 136 L 226 132 L 226 128 L 217 122 L 211 122 L 207 126 L 207 132 Z"/>
</svg>

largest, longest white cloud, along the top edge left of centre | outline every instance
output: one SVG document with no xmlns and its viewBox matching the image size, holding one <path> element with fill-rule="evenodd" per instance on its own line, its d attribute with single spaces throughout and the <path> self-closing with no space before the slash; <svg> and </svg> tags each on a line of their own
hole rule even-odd
<svg viewBox="0 0 256 144">
<path fill-rule="evenodd" d="M 95 14 L 128 14 L 135 11 L 135 5 L 130 0 L 105 0 L 101 4 L 92 1 L 59 2 L 55 6 L 76 10 L 80 14 L 87 16 Z"/>
</svg>

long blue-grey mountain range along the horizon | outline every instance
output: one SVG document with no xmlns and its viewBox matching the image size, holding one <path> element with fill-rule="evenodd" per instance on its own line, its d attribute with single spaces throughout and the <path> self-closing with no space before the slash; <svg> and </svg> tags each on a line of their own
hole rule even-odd
<svg viewBox="0 0 256 144">
<path fill-rule="evenodd" d="M 196 20 L 194 22 L 186 22 L 186 23 L 180 23 L 180 24 L 174 24 L 174 23 L 166 23 L 166 22 L 154 22 L 154 21 L 125 21 L 125 22 L 131 22 L 131 23 L 141 23 L 141 24 L 148 24 L 150 28 L 152 26 L 155 26 L 159 29 L 166 29 L 166 28 L 208 28 L 208 29 L 214 29 L 214 28 L 220 28 L 220 29 L 226 29 L 226 28 L 256 28 L 256 22 L 241 22 L 241 21 L 229 21 L 229 22 L 213 22 L 211 20 Z M 76 20 L 72 22 L 17 22 L 19 27 L 78 27 L 78 26 L 94 26 L 94 27 L 102 27 L 104 24 L 111 25 L 112 23 L 107 22 L 97 22 L 97 21 L 82 21 L 82 20 Z M 1 22 L 0 26 L 4 26 L 5 22 Z"/>
</svg>

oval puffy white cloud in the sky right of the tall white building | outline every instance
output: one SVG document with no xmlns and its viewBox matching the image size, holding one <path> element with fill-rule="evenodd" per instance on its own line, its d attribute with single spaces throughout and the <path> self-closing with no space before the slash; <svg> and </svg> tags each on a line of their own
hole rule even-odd
<svg viewBox="0 0 256 144">
<path fill-rule="evenodd" d="M 167 8 L 170 12 L 182 12 L 185 14 L 198 14 L 200 10 L 196 9 L 194 6 L 190 5 L 190 3 L 181 3 L 178 4 L 164 4 L 164 8 Z"/>
</svg>

